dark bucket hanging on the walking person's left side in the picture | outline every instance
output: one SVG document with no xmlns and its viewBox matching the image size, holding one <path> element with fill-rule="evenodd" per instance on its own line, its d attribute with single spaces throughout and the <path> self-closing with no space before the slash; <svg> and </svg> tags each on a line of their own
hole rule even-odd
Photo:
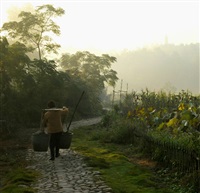
<svg viewBox="0 0 200 193">
<path fill-rule="evenodd" d="M 37 131 L 32 135 L 32 145 L 34 151 L 47 151 L 49 146 L 49 135 L 42 132 Z"/>
</svg>

